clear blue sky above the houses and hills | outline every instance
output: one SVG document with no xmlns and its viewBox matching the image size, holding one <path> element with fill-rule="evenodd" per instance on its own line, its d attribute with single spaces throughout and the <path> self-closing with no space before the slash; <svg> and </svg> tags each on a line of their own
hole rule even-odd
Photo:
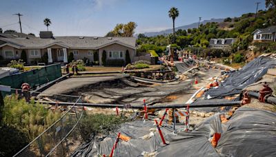
<svg viewBox="0 0 276 157">
<path fill-rule="evenodd" d="M 137 23 L 135 34 L 172 28 L 168 10 L 175 7 L 179 17 L 175 26 L 197 22 L 199 17 L 218 19 L 239 17 L 265 10 L 265 0 L 1 0 L 0 28 L 39 34 L 47 30 L 43 19 L 49 18 L 54 36 L 104 36 L 117 23 Z"/>
</svg>

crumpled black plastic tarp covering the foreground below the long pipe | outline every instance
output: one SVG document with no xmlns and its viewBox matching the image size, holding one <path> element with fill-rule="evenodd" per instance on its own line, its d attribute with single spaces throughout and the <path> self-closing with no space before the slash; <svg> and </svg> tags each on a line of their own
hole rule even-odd
<svg viewBox="0 0 276 157">
<path fill-rule="evenodd" d="M 221 113 L 207 118 L 192 132 L 172 134 L 161 130 L 169 145 L 162 146 L 158 132 L 148 140 L 140 137 L 148 134 L 152 121 L 125 123 L 117 132 L 130 136 L 128 142 L 119 140 L 114 156 L 142 156 L 143 152 L 155 152 L 156 156 L 276 156 L 276 114 L 260 109 L 241 107 L 230 121 L 221 123 Z M 221 138 L 214 148 L 209 138 L 215 133 Z M 103 140 L 85 143 L 72 156 L 97 156 L 110 154 L 116 134 Z"/>
</svg>

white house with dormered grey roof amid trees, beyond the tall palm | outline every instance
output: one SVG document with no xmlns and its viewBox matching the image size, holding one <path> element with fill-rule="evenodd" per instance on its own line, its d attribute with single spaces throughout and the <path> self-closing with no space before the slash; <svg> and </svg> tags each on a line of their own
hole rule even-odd
<svg viewBox="0 0 276 157">
<path fill-rule="evenodd" d="M 234 43 L 234 38 L 210 39 L 208 48 L 227 50 L 230 49 Z"/>
</svg>

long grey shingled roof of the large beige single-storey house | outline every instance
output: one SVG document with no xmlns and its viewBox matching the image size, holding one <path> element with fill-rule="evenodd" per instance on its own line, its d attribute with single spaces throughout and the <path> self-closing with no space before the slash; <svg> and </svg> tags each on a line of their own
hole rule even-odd
<svg viewBox="0 0 276 157">
<path fill-rule="evenodd" d="M 135 37 L 56 36 L 53 39 L 41 39 L 39 37 L 30 39 L 0 37 L 0 40 L 13 43 L 14 45 L 20 45 L 21 48 L 48 48 L 51 45 L 61 45 L 65 48 L 72 49 L 99 49 L 113 43 L 133 49 L 136 46 Z"/>
</svg>

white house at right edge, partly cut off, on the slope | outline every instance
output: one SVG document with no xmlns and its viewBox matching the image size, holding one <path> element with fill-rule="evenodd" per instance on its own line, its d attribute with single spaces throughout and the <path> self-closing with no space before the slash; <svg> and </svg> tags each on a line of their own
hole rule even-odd
<svg viewBox="0 0 276 157">
<path fill-rule="evenodd" d="M 254 42 L 276 41 L 276 25 L 269 28 L 257 29 L 253 33 Z"/>
</svg>

